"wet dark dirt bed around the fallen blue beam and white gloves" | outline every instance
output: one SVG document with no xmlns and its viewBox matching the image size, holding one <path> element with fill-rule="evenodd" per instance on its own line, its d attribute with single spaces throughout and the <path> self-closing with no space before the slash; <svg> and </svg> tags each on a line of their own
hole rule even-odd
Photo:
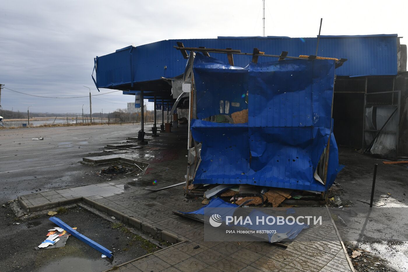
<svg viewBox="0 0 408 272">
<path fill-rule="evenodd" d="M 35 250 L 55 227 L 49 216 L 18 221 L 9 206 L 0 207 L 0 267 L 9 271 L 103 271 L 126 261 L 154 252 L 159 248 L 131 233 L 123 225 L 113 228 L 112 222 L 75 206 L 56 215 L 78 232 L 113 251 L 112 259 L 70 236 L 60 249 Z M 13 223 L 20 223 L 18 225 Z M 121 223 L 118 223 L 121 224 Z"/>
</svg>

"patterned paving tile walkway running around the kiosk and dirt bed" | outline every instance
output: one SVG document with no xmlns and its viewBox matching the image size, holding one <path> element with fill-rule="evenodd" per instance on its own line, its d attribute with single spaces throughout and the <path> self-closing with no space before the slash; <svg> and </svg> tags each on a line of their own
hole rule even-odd
<svg viewBox="0 0 408 272">
<path fill-rule="evenodd" d="M 192 211 L 202 207 L 199 201 L 184 198 L 182 185 L 157 192 L 144 190 L 153 186 L 153 181 L 157 181 L 156 187 L 165 187 L 184 180 L 185 139 L 186 129 L 179 128 L 171 134 L 149 138 L 149 147 L 153 148 L 110 155 L 148 165 L 137 181 L 125 178 L 28 194 L 19 197 L 20 203 L 30 208 L 86 197 L 185 241 L 126 263 L 116 271 L 354 271 L 339 240 L 322 241 L 324 235 L 336 235 L 333 226 L 324 235 L 304 230 L 301 235 L 316 237 L 316 241 L 295 241 L 287 249 L 265 242 L 204 241 L 203 223 L 173 214 L 174 210 Z"/>
</svg>

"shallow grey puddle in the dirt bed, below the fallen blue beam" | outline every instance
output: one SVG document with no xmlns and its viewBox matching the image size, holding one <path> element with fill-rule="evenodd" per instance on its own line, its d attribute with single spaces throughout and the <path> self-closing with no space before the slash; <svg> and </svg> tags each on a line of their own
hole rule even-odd
<svg viewBox="0 0 408 272">
<path fill-rule="evenodd" d="M 41 272 L 89 272 L 89 271 L 104 271 L 108 269 L 109 262 L 100 260 L 90 260 L 84 258 L 65 257 L 58 261 L 41 267 Z"/>
</svg>

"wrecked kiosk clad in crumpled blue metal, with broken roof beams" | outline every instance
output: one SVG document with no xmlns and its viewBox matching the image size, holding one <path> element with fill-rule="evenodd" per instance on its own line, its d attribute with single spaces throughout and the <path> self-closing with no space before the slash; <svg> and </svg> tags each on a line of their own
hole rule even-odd
<svg viewBox="0 0 408 272">
<path fill-rule="evenodd" d="M 192 183 L 223 185 L 217 193 L 254 185 L 253 196 L 271 187 L 327 192 L 341 169 L 333 87 L 335 68 L 346 59 L 176 48 L 190 75 L 182 83 L 190 98 L 187 191 Z M 229 63 L 209 53 L 227 54 Z M 234 66 L 233 54 L 252 61 Z M 271 61 L 258 63 L 259 57 Z"/>
</svg>

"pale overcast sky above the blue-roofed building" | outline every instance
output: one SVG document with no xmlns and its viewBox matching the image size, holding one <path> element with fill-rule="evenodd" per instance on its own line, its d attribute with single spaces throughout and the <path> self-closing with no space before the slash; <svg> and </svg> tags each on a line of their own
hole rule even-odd
<svg viewBox="0 0 408 272">
<path fill-rule="evenodd" d="M 322 35 L 408 36 L 407 2 L 266 0 L 266 36 L 315 37 L 321 17 Z M 82 85 L 98 94 L 95 56 L 132 44 L 217 36 L 262 36 L 262 0 L 2 1 L 0 83 L 40 96 L 89 95 Z M 134 102 L 120 91 L 95 98 L 93 112 Z M 15 111 L 32 105 L 33 112 L 79 113 L 83 104 L 89 112 L 89 98 L 35 98 L 7 89 L 1 95 L 3 109 Z"/>
</svg>

